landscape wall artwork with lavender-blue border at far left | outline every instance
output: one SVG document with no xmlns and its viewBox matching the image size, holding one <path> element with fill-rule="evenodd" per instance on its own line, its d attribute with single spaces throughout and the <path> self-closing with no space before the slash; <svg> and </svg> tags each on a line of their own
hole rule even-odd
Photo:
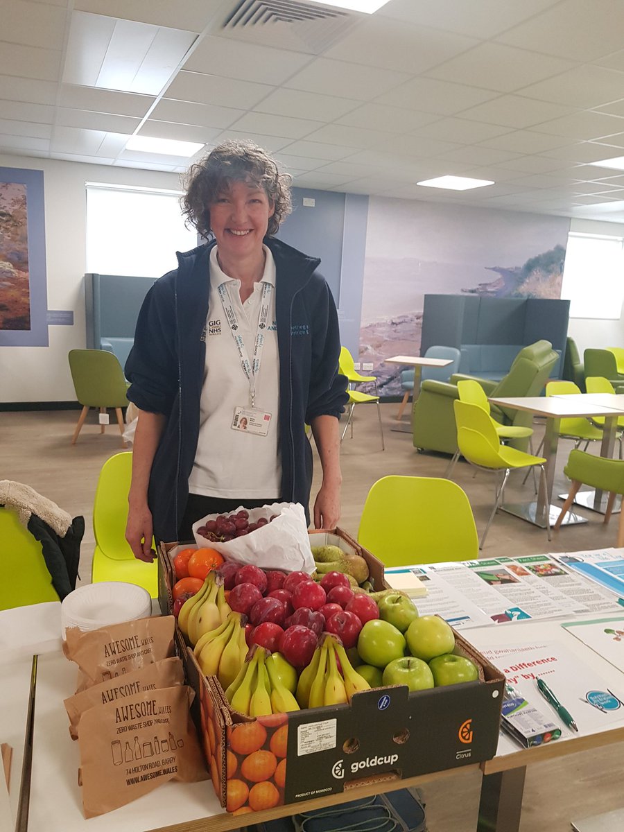
<svg viewBox="0 0 624 832">
<path fill-rule="evenodd" d="M 0 346 L 47 345 L 43 171 L 0 167 Z"/>
</svg>

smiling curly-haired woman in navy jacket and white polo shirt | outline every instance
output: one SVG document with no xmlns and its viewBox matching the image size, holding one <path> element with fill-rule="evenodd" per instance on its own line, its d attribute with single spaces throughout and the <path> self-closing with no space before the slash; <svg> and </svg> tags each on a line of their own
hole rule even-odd
<svg viewBox="0 0 624 832">
<path fill-rule="evenodd" d="M 323 482 L 314 526 L 340 515 L 338 317 L 319 260 L 273 239 L 290 177 L 260 147 L 226 142 L 192 166 L 184 213 L 210 240 L 146 295 L 126 363 L 139 409 L 126 539 L 151 560 L 215 512 L 275 500 L 308 516 L 312 452 Z"/>
</svg>

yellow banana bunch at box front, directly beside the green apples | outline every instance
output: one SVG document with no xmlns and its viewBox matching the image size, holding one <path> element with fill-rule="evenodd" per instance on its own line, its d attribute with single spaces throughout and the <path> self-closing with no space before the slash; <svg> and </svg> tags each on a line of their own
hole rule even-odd
<svg viewBox="0 0 624 832">
<path fill-rule="evenodd" d="M 350 702 L 354 693 L 369 688 L 364 677 L 354 671 L 339 639 L 324 633 L 312 661 L 301 672 L 295 696 L 301 708 L 319 708 Z"/>
</svg>

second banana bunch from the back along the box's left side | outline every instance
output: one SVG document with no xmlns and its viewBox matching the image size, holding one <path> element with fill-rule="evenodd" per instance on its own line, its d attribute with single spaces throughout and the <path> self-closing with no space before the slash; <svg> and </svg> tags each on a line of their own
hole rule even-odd
<svg viewBox="0 0 624 832">
<path fill-rule="evenodd" d="M 224 689 L 231 685 L 247 655 L 245 617 L 229 612 L 224 622 L 200 637 L 193 652 L 205 676 L 216 676 Z"/>
</svg>

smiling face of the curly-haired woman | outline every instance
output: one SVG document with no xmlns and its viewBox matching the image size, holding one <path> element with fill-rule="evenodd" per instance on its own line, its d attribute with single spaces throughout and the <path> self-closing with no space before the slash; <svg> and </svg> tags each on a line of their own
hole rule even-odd
<svg viewBox="0 0 624 832">
<path fill-rule="evenodd" d="M 260 254 L 274 210 L 265 191 L 251 182 L 234 181 L 220 191 L 210 203 L 210 229 L 220 257 Z"/>
</svg>

